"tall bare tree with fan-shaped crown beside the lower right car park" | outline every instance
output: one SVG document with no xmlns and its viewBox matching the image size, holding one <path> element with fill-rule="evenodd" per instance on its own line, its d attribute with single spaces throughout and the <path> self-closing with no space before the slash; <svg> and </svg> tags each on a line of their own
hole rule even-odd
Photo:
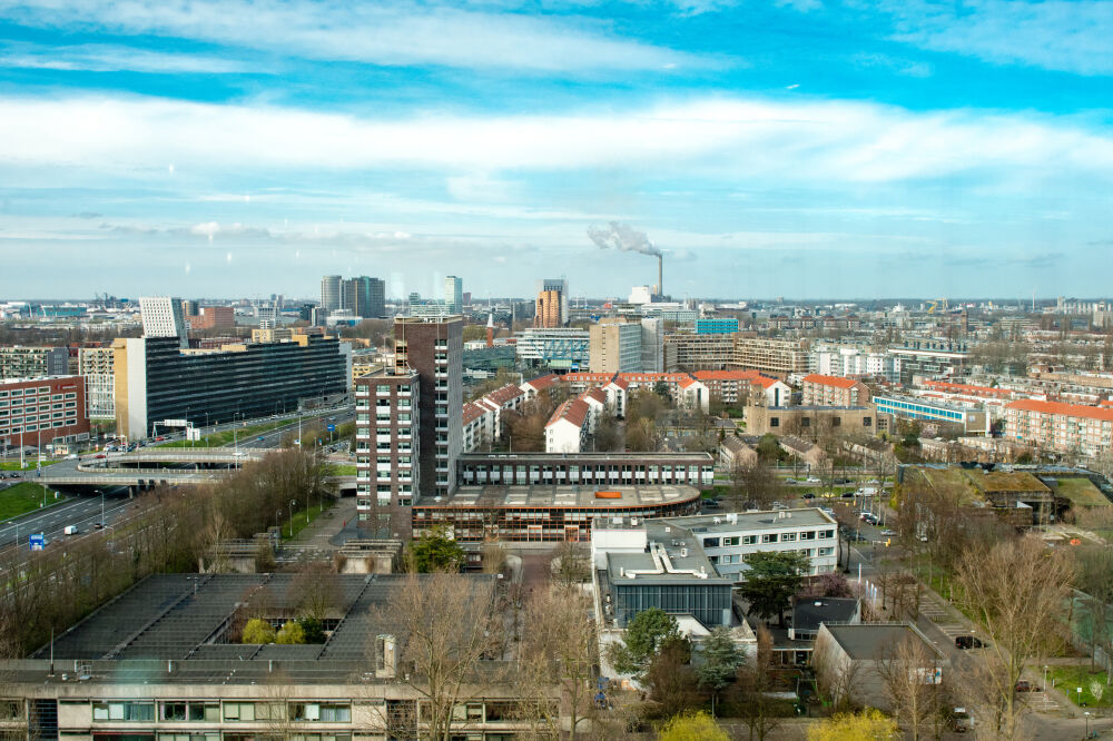
<svg viewBox="0 0 1113 741">
<path fill-rule="evenodd" d="M 1068 556 L 1034 536 L 992 546 L 972 543 L 958 563 L 956 597 L 984 626 L 989 638 L 987 653 L 998 665 L 982 684 L 995 698 L 997 731 L 1003 738 L 1011 739 L 1018 730 L 1017 680 L 1058 635 L 1071 575 Z"/>
</svg>

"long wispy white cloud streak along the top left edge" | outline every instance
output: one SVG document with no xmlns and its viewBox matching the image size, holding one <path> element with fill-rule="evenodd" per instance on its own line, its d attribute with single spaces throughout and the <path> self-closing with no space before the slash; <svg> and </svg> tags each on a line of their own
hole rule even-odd
<svg viewBox="0 0 1113 741">
<path fill-rule="evenodd" d="M 0 7 L 0 18 L 36 28 L 171 37 L 384 66 L 558 72 L 710 63 L 684 52 L 613 38 L 607 24 L 595 21 L 436 3 L 27 0 Z"/>
</svg>

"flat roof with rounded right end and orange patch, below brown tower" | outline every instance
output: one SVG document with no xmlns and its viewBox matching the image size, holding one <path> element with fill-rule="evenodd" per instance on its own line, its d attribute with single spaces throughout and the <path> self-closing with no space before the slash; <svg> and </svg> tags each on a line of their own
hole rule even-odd
<svg viewBox="0 0 1113 741">
<path fill-rule="evenodd" d="M 600 496 L 604 494 L 604 496 Z M 423 498 L 414 508 L 504 508 L 504 507 L 649 507 L 679 504 L 700 497 L 700 491 L 684 484 L 646 486 L 552 486 L 544 484 L 461 486 L 447 497 Z"/>
</svg>

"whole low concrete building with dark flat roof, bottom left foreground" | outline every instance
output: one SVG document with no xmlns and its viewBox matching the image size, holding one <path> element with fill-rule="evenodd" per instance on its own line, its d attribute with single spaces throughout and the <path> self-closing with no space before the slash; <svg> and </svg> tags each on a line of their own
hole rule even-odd
<svg viewBox="0 0 1113 741">
<path fill-rule="evenodd" d="M 429 738 L 429 689 L 404 663 L 411 635 L 384 618 L 410 577 L 327 579 L 327 641 L 258 644 L 244 643 L 243 621 L 229 616 L 260 615 L 282 625 L 303 614 L 296 575 L 149 576 L 58 631 L 50 648 L 0 664 L 6 696 L 19 698 L 6 700 L 11 720 L 3 722 L 26 728 L 22 738 L 36 741 Z M 480 604 L 492 579 L 463 577 L 461 603 Z M 480 662 L 483 678 L 463 675 L 459 691 L 466 703 L 453 712 L 452 738 L 529 735 L 533 727 L 516 712 L 526 699 L 523 682 L 513 646 L 509 651 L 506 659 Z M 551 703 L 554 722 L 568 722 L 555 683 L 529 700 Z"/>
</svg>

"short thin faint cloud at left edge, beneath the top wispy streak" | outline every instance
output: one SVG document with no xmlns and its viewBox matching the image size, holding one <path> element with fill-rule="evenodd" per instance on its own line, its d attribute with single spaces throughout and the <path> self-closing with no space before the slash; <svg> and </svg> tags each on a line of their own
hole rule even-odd
<svg viewBox="0 0 1113 741">
<path fill-rule="evenodd" d="M 45 47 L 12 43 L 0 50 L 0 67 L 23 69 L 83 70 L 90 72 L 158 72 L 166 75 L 230 72 L 253 73 L 267 70 L 242 62 L 204 55 L 173 55 L 116 45 Z"/>
</svg>

